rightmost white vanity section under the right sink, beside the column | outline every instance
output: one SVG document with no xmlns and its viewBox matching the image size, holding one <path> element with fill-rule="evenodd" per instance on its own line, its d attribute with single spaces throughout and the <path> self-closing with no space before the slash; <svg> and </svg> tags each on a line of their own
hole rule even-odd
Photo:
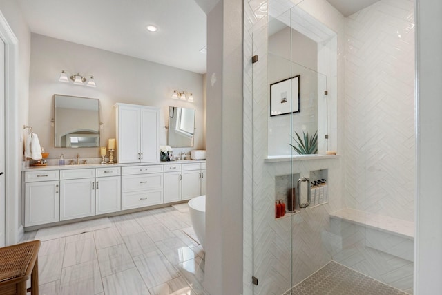
<svg viewBox="0 0 442 295">
<path fill-rule="evenodd" d="M 201 171 L 201 164 L 204 164 L 205 169 L 205 163 L 182 164 L 182 200 L 201 196 L 202 180 L 204 180 L 205 193 L 206 184 L 204 174 Z"/>
</svg>

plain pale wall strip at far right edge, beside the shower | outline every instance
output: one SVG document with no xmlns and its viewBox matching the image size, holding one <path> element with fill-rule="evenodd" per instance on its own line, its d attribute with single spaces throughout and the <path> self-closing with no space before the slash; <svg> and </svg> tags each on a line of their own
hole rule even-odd
<svg viewBox="0 0 442 295">
<path fill-rule="evenodd" d="M 414 294 L 442 294 L 442 1 L 418 0 Z"/>
</svg>

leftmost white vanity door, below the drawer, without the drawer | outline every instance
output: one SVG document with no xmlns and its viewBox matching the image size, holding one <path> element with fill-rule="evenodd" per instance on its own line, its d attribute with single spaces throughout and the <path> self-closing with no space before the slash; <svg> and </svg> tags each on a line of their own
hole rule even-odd
<svg viewBox="0 0 442 295">
<path fill-rule="evenodd" d="M 25 190 L 25 227 L 59 221 L 58 180 L 28 182 Z"/>
</svg>

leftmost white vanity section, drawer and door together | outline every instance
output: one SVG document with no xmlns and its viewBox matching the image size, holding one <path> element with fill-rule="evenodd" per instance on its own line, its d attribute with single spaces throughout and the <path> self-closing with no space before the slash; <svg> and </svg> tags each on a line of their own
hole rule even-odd
<svg viewBox="0 0 442 295">
<path fill-rule="evenodd" d="M 59 171 L 27 171 L 25 227 L 59 221 Z"/>
</svg>

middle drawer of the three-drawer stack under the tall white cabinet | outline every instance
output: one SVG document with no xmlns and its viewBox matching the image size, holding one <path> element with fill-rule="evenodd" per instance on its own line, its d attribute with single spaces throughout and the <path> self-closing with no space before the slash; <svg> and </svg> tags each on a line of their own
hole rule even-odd
<svg viewBox="0 0 442 295">
<path fill-rule="evenodd" d="M 163 173 L 125 175 L 122 177 L 122 192 L 162 189 Z"/>
</svg>

